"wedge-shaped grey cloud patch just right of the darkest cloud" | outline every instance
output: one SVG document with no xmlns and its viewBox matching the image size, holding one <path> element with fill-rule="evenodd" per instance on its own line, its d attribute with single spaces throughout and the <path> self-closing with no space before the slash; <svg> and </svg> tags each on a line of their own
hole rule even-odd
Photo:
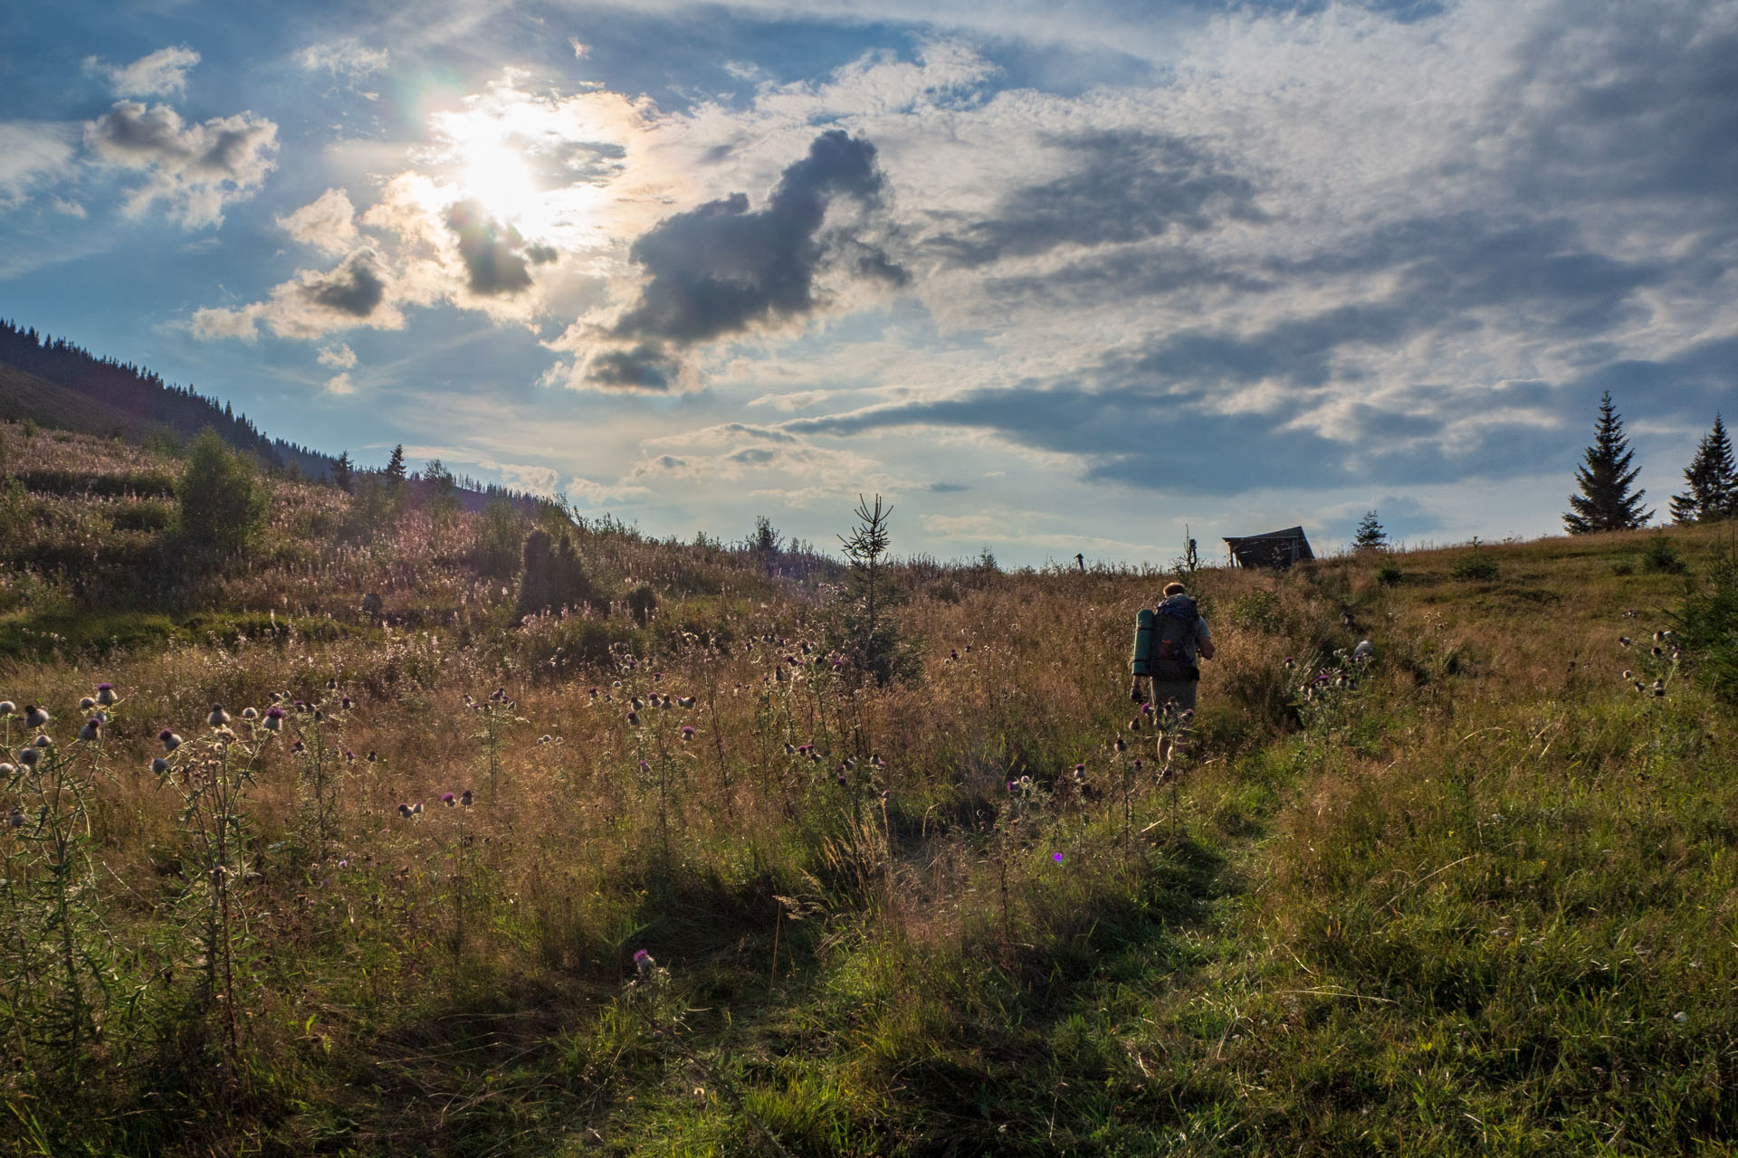
<svg viewBox="0 0 1738 1158">
<path fill-rule="evenodd" d="M 932 241 L 956 266 L 1046 253 L 1062 245 L 1145 241 L 1225 219 L 1265 220 L 1255 186 L 1199 144 L 1144 132 L 1053 142 L 1071 172 L 1012 191 L 989 220 Z"/>
</svg>

